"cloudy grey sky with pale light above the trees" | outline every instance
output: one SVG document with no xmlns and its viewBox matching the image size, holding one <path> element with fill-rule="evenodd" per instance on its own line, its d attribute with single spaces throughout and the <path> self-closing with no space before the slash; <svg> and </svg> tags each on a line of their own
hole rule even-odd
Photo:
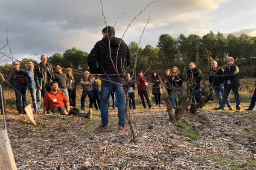
<svg viewBox="0 0 256 170">
<path fill-rule="evenodd" d="M 108 25 L 116 21 L 116 37 L 122 37 L 131 20 L 152 0 L 102 0 Z M 203 36 L 242 33 L 256 36 L 256 0 L 157 0 L 143 11 L 124 36 L 127 44 L 157 44 L 161 34 Z M 119 19 L 117 17 L 119 16 Z M 105 27 L 100 0 L 0 0 L 0 48 L 6 44 L 6 27 L 14 57 L 34 58 L 64 53 L 76 47 L 90 53 Z M 1 52 L 7 52 L 4 48 Z M 10 62 L 3 58 L 0 63 Z"/>
</svg>

